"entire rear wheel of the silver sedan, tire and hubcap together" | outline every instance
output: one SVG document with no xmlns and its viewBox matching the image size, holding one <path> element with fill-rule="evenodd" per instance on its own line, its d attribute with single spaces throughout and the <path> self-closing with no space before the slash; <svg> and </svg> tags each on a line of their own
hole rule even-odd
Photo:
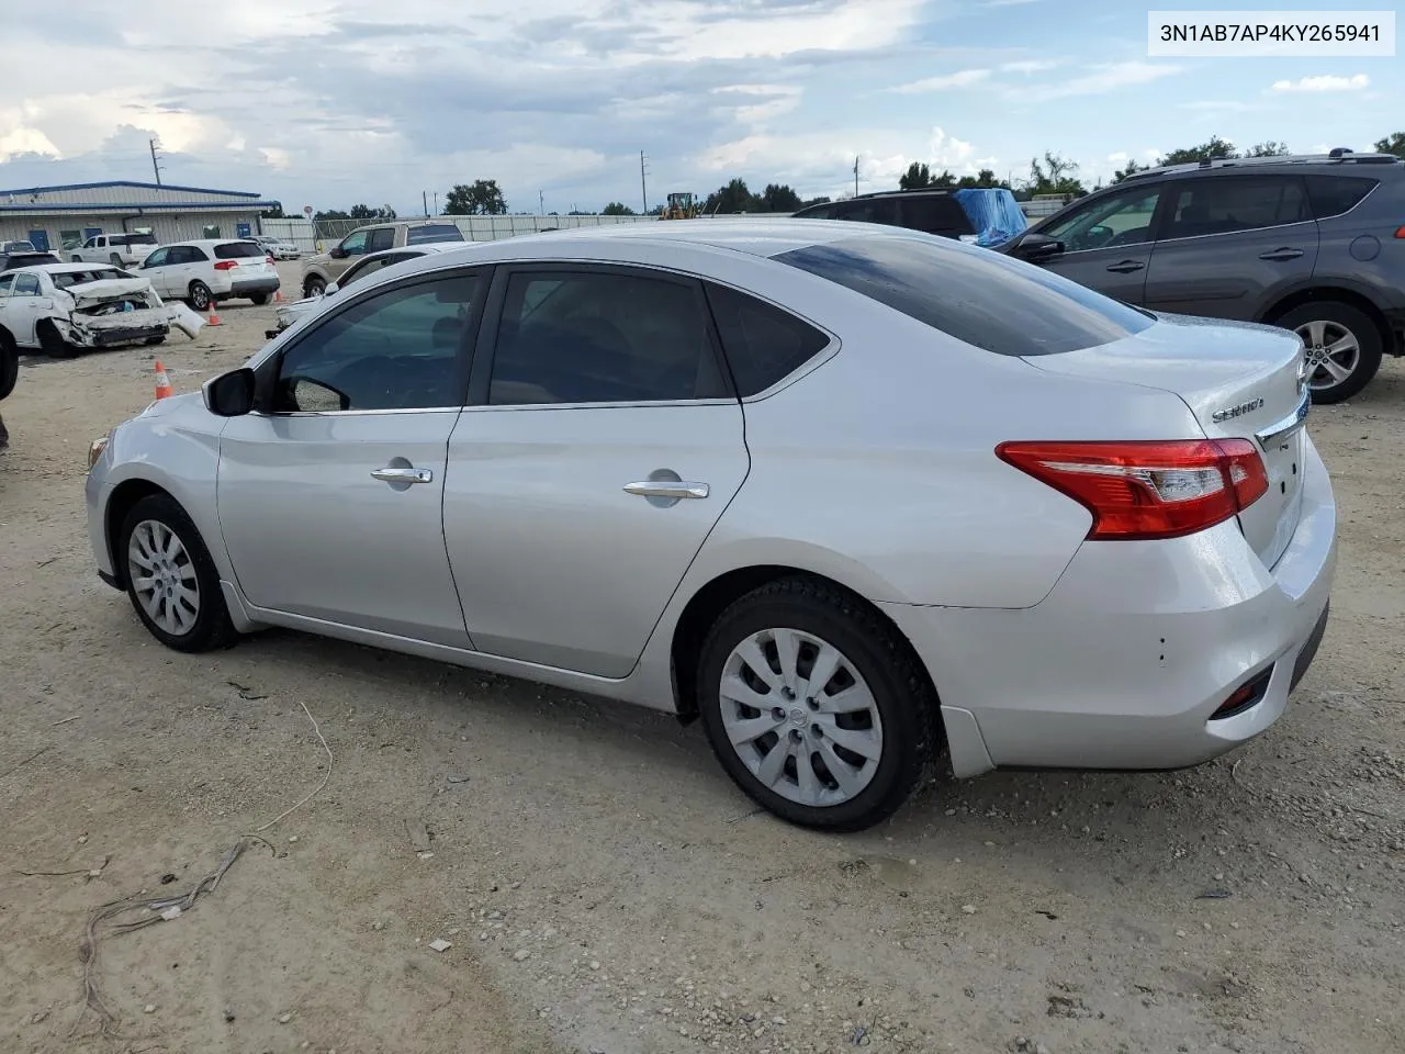
<svg viewBox="0 0 1405 1054">
<path fill-rule="evenodd" d="M 825 649 L 833 649 L 828 656 L 837 666 L 815 696 L 804 687 L 780 694 L 790 686 L 778 689 L 771 663 L 781 665 L 776 645 L 787 635 L 799 644 L 794 665 L 806 679 Z M 766 661 L 776 686 L 760 696 L 776 700 L 770 713 L 735 698 L 759 701 L 747 682 L 767 687 L 740 655 L 750 645 L 760 646 L 753 662 Z M 738 686 L 735 694 L 724 694 L 724 677 Z M 864 686 L 871 705 L 863 710 L 836 711 L 823 701 Z M 697 698 L 728 776 L 781 819 L 822 831 L 863 831 L 891 816 L 934 772 L 943 742 L 936 691 L 906 641 L 858 597 L 809 578 L 762 586 L 718 617 L 702 644 Z M 736 735 L 747 738 L 733 746 Z M 774 753 L 783 748 L 785 755 Z M 778 765 L 767 769 L 773 759 Z M 802 777 L 802 762 L 813 780 Z M 839 766 L 846 786 L 835 777 Z"/>
</svg>

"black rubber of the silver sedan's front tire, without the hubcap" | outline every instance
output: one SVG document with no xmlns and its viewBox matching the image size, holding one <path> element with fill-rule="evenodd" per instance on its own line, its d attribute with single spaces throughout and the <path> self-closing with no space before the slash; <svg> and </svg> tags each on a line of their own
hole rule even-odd
<svg viewBox="0 0 1405 1054">
<path fill-rule="evenodd" d="M 195 572 L 198 610 L 192 625 L 181 634 L 173 634 L 157 625 L 138 597 L 133 569 L 138 572 L 142 569 L 132 562 L 129 548 L 132 533 L 148 520 L 164 526 L 180 540 L 188 557 L 188 564 L 181 566 L 190 566 Z M 121 575 L 126 582 L 126 596 L 132 601 L 136 617 L 142 620 L 142 625 L 152 637 L 167 648 L 178 652 L 208 652 L 228 648 L 239 639 L 239 634 L 229 620 L 225 594 L 219 587 L 219 572 L 215 569 L 215 561 L 211 559 L 209 549 L 205 548 L 194 521 L 170 495 L 148 495 L 132 506 L 117 533 L 112 559 L 121 566 Z"/>
</svg>

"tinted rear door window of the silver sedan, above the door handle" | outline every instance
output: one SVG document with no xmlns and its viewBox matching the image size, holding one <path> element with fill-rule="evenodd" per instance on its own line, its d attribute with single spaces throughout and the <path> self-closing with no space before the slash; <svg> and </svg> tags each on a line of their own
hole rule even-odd
<svg viewBox="0 0 1405 1054">
<path fill-rule="evenodd" d="M 693 285 L 627 271 L 518 273 L 507 282 L 489 403 L 725 393 Z"/>
</svg>

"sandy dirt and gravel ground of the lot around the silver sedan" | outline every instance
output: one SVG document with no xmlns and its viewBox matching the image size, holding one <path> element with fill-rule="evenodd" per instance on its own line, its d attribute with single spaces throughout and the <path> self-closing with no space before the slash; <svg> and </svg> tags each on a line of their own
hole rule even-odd
<svg viewBox="0 0 1405 1054">
<path fill-rule="evenodd" d="M 177 391 L 273 309 L 221 315 L 159 349 Z M 1405 363 L 1314 410 L 1342 565 L 1269 735 L 1184 773 L 934 786 L 825 838 L 754 815 L 665 715 L 291 632 L 157 646 L 83 520 L 87 443 L 150 399 L 153 350 L 27 360 L 0 405 L 0 1050 L 1405 1050 Z M 326 788 L 277 856 L 101 940 L 98 1037 L 90 912 L 315 790 L 299 704 Z"/>
</svg>

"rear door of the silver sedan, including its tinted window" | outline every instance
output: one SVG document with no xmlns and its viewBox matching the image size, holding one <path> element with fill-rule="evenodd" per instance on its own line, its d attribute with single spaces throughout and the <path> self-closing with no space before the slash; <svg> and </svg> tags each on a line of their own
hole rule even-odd
<svg viewBox="0 0 1405 1054">
<path fill-rule="evenodd" d="M 750 465 L 701 287 L 523 264 L 489 304 L 444 489 L 469 635 L 624 677 Z"/>
</svg>

